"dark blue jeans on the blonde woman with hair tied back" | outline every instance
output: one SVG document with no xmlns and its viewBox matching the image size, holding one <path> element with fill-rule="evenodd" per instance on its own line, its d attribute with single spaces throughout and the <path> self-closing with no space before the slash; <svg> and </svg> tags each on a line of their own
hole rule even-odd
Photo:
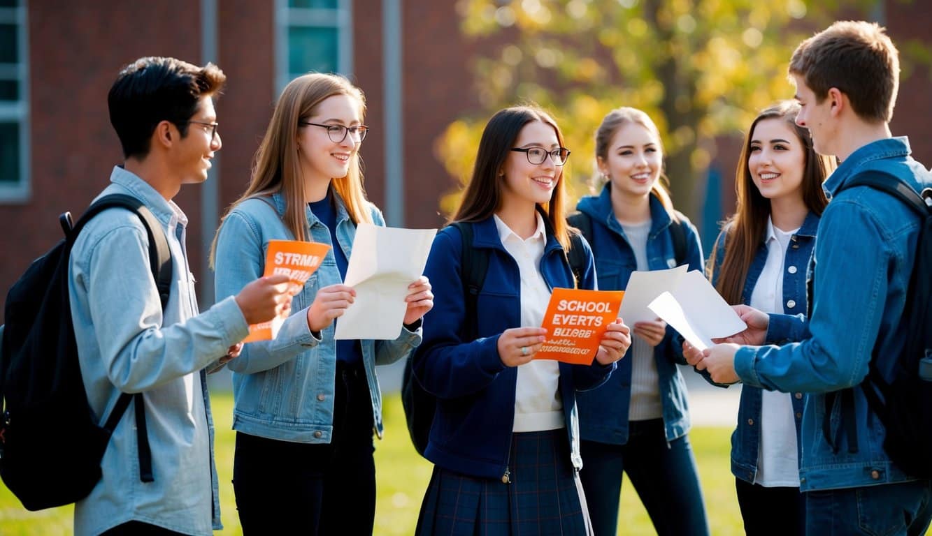
<svg viewBox="0 0 932 536">
<path fill-rule="evenodd" d="M 667 443 L 664 421 L 632 421 L 625 445 L 583 441 L 583 481 L 597 536 L 618 529 L 622 473 L 637 490 L 658 536 L 709 533 L 695 458 L 688 436 Z"/>
</svg>

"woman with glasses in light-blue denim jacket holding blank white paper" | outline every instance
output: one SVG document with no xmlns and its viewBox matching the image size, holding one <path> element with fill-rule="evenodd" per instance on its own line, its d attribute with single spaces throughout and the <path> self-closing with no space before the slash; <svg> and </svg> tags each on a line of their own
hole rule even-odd
<svg viewBox="0 0 932 536">
<path fill-rule="evenodd" d="M 252 180 L 215 240 L 222 299 L 261 275 L 269 240 L 332 245 L 295 296 L 295 314 L 273 341 L 250 342 L 233 370 L 233 465 L 247 534 L 274 526 L 300 534 L 371 534 L 376 512 L 373 431 L 382 436 L 376 365 L 420 342 L 432 307 L 426 277 L 408 287 L 394 341 L 336 341 L 335 319 L 352 304 L 343 285 L 356 226 L 385 225 L 363 194 L 363 92 L 335 74 L 305 74 L 281 92 L 255 154 Z M 352 504 L 352 516 L 345 516 Z"/>
</svg>

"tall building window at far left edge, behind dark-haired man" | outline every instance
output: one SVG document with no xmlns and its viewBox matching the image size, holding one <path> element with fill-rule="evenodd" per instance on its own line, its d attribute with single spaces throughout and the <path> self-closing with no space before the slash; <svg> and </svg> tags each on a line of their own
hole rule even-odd
<svg viewBox="0 0 932 536">
<path fill-rule="evenodd" d="M 0 0 L 0 201 L 29 196 L 25 0 Z"/>
</svg>

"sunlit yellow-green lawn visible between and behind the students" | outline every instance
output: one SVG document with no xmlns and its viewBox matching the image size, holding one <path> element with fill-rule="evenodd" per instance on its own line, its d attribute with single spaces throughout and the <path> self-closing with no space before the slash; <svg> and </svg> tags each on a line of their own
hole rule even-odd
<svg viewBox="0 0 932 536">
<path fill-rule="evenodd" d="M 212 396 L 217 424 L 217 471 L 224 527 L 218 535 L 241 534 L 233 502 L 233 439 L 230 430 L 232 395 Z M 404 412 L 398 395 L 385 401 L 385 439 L 377 443 L 376 467 L 378 496 L 375 534 L 409 535 L 414 531 L 424 489 L 431 476 L 431 464 L 420 458 L 411 446 L 404 427 Z M 706 509 L 712 534 L 743 534 L 741 517 L 734 498 L 733 477 L 729 471 L 729 436 L 727 428 L 696 428 L 691 434 L 692 447 L 699 462 L 700 478 L 706 495 Z M 625 481 L 622 491 L 621 534 L 652 534 L 651 521 L 637 500 L 637 493 Z M 27 512 L 0 485 L 0 534 L 4 536 L 56 536 L 72 533 L 72 507 L 42 512 Z"/>
</svg>

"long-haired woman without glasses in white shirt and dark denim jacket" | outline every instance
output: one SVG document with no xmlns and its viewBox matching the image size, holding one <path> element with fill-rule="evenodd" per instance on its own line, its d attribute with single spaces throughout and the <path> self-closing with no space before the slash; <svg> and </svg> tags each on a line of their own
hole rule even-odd
<svg viewBox="0 0 932 536">
<path fill-rule="evenodd" d="M 786 100 L 751 123 L 734 178 L 737 210 L 709 259 L 712 285 L 726 302 L 766 313 L 806 310 L 806 265 L 829 203 L 822 182 L 835 168 L 796 125 L 799 112 L 799 103 Z M 803 402 L 799 392 L 741 390 L 732 473 L 748 536 L 805 533 L 798 462 Z"/>
</svg>

